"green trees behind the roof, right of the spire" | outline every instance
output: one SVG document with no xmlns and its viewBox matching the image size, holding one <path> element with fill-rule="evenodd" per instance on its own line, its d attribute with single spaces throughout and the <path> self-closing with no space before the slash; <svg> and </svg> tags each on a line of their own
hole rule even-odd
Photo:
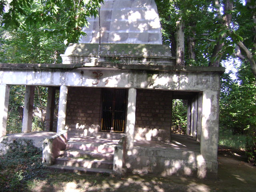
<svg viewBox="0 0 256 192">
<path fill-rule="evenodd" d="M 250 64 L 256 76 L 256 1 L 246 0 L 156 0 L 163 39 L 174 50 L 178 43 L 176 24 L 184 31 L 186 65 L 220 66 L 228 57 Z M 176 32 L 176 34 L 175 34 Z M 177 48 L 178 46 L 178 48 Z M 180 48 L 179 48 L 180 47 Z"/>
</svg>

